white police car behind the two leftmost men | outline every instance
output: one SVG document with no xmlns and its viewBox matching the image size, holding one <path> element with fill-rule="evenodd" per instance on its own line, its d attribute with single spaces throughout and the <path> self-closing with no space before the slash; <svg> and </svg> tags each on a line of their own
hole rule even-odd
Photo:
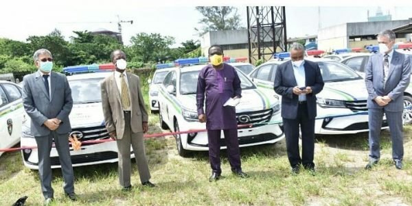
<svg viewBox="0 0 412 206">
<path fill-rule="evenodd" d="M 99 69 L 100 68 L 100 69 Z M 108 75 L 113 75 L 113 64 L 92 64 L 89 66 L 70 66 L 64 68 L 73 97 L 73 109 L 69 115 L 71 134 L 76 134 L 80 142 L 87 140 L 106 140 L 109 138 L 104 126 L 100 82 Z M 95 73 L 89 73 L 95 71 Z M 105 71 L 105 72 L 98 72 Z M 36 146 L 36 140 L 30 134 L 30 118 L 25 116 L 21 132 L 21 146 Z M 31 169 L 38 169 L 37 149 L 25 149 L 21 152 L 23 163 Z M 70 147 L 73 166 L 86 166 L 117 162 L 116 142 L 84 144 L 80 151 Z M 134 155 L 132 155 L 134 157 Z M 58 153 L 52 148 L 50 153 L 52 168 L 60 168 Z"/>
</svg>

